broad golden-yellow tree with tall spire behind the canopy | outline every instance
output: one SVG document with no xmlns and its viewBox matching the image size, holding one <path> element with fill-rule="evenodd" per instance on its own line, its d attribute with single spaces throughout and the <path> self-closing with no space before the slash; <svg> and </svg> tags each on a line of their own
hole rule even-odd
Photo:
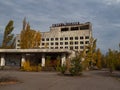
<svg viewBox="0 0 120 90">
<path fill-rule="evenodd" d="M 23 21 L 23 30 L 20 34 L 20 46 L 22 49 L 39 47 L 41 34 L 39 31 L 32 30 L 26 19 Z"/>
</svg>

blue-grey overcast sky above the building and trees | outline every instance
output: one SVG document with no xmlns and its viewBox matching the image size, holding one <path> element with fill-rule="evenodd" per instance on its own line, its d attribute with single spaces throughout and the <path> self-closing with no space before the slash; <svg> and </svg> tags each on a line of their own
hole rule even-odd
<svg viewBox="0 0 120 90">
<path fill-rule="evenodd" d="M 11 19 L 20 33 L 24 17 L 41 32 L 55 23 L 91 22 L 103 52 L 120 43 L 120 0 L 0 0 L 0 33 Z"/>
</svg>

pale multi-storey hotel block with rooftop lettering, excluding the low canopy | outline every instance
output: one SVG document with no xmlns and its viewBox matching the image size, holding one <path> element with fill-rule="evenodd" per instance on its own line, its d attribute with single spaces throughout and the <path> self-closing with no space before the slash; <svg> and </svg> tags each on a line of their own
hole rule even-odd
<svg viewBox="0 0 120 90">
<path fill-rule="evenodd" d="M 87 23 L 60 23 L 53 24 L 49 32 L 42 32 L 40 48 L 69 49 L 82 51 L 89 44 L 92 36 L 92 26 Z M 20 36 L 16 38 L 16 48 L 20 48 Z"/>
</svg>

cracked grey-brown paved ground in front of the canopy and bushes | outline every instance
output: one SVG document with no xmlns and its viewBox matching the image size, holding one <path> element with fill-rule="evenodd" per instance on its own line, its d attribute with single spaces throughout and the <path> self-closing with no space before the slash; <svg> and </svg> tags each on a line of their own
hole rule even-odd
<svg viewBox="0 0 120 90">
<path fill-rule="evenodd" d="M 120 90 L 120 81 L 104 71 L 84 72 L 81 77 L 67 77 L 55 72 L 0 71 L 1 76 L 18 78 L 22 83 L 0 86 L 0 90 Z"/>
</svg>

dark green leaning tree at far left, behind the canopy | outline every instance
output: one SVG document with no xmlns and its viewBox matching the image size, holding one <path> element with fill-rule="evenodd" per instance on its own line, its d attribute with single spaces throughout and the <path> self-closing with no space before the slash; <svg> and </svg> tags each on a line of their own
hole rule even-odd
<svg viewBox="0 0 120 90">
<path fill-rule="evenodd" d="M 13 48 L 15 41 L 15 39 L 13 40 L 14 34 L 12 34 L 12 31 L 14 29 L 13 24 L 13 20 L 10 20 L 5 27 L 4 37 L 2 41 L 2 48 L 4 49 Z"/>
</svg>

